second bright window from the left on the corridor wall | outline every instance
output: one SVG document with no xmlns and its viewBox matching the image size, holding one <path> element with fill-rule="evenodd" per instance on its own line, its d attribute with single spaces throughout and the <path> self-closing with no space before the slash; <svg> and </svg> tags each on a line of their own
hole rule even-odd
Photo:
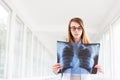
<svg viewBox="0 0 120 80">
<path fill-rule="evenodd" d="M 14 71 L 13 77 L 19 78 L 22 76 L 22 57 L 23 57 L 23 22 L 16 17 L 15 21 L 15 45 L 14 45 Z"/>
</svg>

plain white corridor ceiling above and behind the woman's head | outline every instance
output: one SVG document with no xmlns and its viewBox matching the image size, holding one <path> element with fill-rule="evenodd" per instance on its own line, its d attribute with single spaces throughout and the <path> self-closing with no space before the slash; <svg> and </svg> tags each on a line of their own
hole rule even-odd
<svg viewBox="0 0 120 80">
<path fill-rule="evenodd" d="M 54 37 L 61 39 L 67 36 L 67 25 L 73 17 L 82 18 L 89 37 L 97 39 L 120 13 L 120 0 L 9 1 L 38 37 L 44 35 L 51 40 L 54 40 Z"/>
</svg>

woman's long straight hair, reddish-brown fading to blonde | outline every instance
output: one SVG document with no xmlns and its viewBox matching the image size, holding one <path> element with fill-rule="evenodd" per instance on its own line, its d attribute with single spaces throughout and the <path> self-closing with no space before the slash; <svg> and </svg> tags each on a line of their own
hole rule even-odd
<svg viewBox="0 0 120 80">
<path fill-rule="evenodd" d="M 74 42 L 74 38 L 73 38 L 73 36 L 71 34 L 71 30 L 70 30 L 70 24 L 71 24 L 71 22 L 76 22 L 76 23 L 78 23 L 82 27 L 82 35 L 81 35 L 82 42 L 84 44 L 89 44 L 90 41 L 88 40 L 88 38 L 86 36 L 83 21 L 82 21 L 82 19 L 77 18 L 77 17 L 76 18 L 72 18 L 69 21 L 69 24 L 68 24 L 68 39 L 67 39 L 67 41 L 68 42 Z"/>
</svg>

